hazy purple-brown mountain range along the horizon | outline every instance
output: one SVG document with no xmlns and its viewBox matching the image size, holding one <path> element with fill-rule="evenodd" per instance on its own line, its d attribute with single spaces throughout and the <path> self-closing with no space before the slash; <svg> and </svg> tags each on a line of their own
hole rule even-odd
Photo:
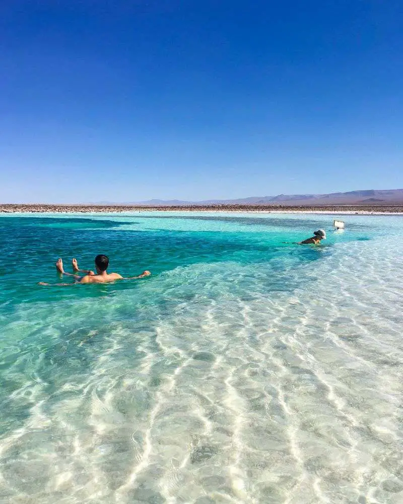
<svg viewBox="0 0 403 504">
<path fill-rule="evenodd" d="M 279 194 L 278 196 L 252 196 L 237 200 L 147 200 L 127 205 L 186 206 L 186 205 L 402 205 L 403 189 L 384 191 L 349 191 L 329 194 Z"/>
</svg>

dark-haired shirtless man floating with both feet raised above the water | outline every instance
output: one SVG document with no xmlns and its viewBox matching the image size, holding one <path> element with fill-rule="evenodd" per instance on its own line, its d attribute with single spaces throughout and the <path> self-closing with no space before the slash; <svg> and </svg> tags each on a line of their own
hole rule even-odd
<svg viewBox="0 0 403 504">
<path fill-rule="evenodd" d="M 137 278 L 144 278 L 151 275 L 151 273 L 148 270 L 143 271 L 141 275 L 138 275 L 136 277 L 122 277 L 121 275 L 119 275 L 119 273 L 108 273 L 106 270 L 109 266 L 109 258 L 107 256 L 104 256 L 103 254 L 99 254 L 95 258 L 95 269 L 97 273 L 94 273 L 91 270 L 81 270 L 77 263 L 77 259 L 72 260 L 72 265 L 73 265 L 73 271 L 75 273 L 67 273 L 64 271 L 63 261 L 61 259 L 58 259 L 56 262 L 56 270 L 61 275 L 67 275 L 76 278 L 77 282 L 75 283 L 81 283 L 81 284 L 108 283 L 108 282 L 114 282 L 115 280 L 134 280 Z M 85 276 L 80 277 L 80 275 L 77 275 L 77 273 L 85 273 Z M 46 282 L 39 282 L 39 285 L 50 285 L 50 284 Z M 54 285 L 74 285 L 74 284 L 59 283 Z"/>
</svg>

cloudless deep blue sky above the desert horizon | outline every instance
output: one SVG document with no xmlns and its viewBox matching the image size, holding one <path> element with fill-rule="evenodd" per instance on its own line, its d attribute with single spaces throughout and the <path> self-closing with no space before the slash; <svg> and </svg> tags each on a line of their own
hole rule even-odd
<svg viewBox="0 0 403 504">
<path fill-rule="evenodd" d="M 3 0 L 0 201 L 401 188 L 402 54 L 399 0 Z"/>
</svg>

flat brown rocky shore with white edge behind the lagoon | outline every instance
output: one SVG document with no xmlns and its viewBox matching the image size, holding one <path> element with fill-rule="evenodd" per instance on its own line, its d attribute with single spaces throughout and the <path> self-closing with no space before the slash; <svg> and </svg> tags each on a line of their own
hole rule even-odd
<svg viewBox="0 0 403 504">
<path fill-rule="evenodd" d="M 309 212 L 337 214 L 400 214 L 403 205 L 189 205 L 189 206 L 140 206 L 140 205 L 56 205 L 56 204 L 0 204 L 0 213 L 121 213 L 147 211 L 191 212 Z"/>
</svg>

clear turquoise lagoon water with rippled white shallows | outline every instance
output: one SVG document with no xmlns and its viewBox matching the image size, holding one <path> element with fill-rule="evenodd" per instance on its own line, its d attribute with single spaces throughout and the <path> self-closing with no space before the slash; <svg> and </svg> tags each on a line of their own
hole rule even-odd
<svg viewBox="0 0 403 504">
<path fill-rule="evenodd" d="M 403 502 L 403 217 L 332 219 L 0 217 L 0 502 Z"/>
</svg>

